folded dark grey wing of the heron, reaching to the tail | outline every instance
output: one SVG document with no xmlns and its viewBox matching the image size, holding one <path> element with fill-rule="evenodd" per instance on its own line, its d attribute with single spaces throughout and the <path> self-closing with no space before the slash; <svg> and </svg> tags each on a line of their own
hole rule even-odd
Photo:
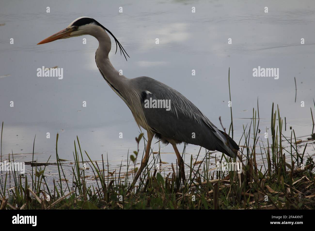
<svg viewBox="0 0 315 231">
<path fill-rule="evenodd" d="M 231 157 L 236 156 L 238 145 L 215 127 L 186 97 L 149 77 L 136 79 L 139 79 L 138 86 L 141 88 L 142 110 L 153 131 L 175 141 L 199 145 L 211 151 L 221 151 Z M 164 105 L 168 108 L 152 108 L 154 100 L 162 105 L 165 101 Z"/>
</svg>

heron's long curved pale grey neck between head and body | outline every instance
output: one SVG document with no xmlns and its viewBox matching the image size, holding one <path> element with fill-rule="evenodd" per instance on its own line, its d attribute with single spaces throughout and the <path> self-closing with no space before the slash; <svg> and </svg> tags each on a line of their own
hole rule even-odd
<svg viewBox="0 0 315 231">
<path fill-rule="evenodd" d="M 94 36 L 99 41 L 99 47 L 95 53 L 96 65 L 108 85 L 125 101 L 125 90 L 128 89 L 128 79 L 123 75 L 119 75 L 119 72 L 113 67 L 108 58 L 112 47 L 110 37 L 103 29 L 99 30 Z"/>
</svg>

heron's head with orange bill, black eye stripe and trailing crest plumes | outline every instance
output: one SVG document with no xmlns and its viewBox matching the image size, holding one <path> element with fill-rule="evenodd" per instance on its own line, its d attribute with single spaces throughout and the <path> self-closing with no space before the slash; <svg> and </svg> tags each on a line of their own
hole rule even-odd
<svg viewBox="0 0 315 231">
<path fill-rule="evenodd" d="M 123 49 L 122 45 L 116 39 L 116 37 L 112 34 L 112 32 L 110 32 L 107 28 L 105 28 L 103 25 L 101 25 L 95 19 L 92 19 L 89 17 L 77 18 L 72 23 L 70 23 L 70 25 L 68 25 L 66 27 L 66 29 L 59 31 L 52 36 L 49 36 L 48 38 L 44 39 L 43 41 L 40 41 L 39 43 L 37 43 L 37 45 L 52 42 L 52 41 L 55 41 L 58 39 L 66 39 L 66 38 L 71 38 L 71 37 L 76 37 L 76 36 L 81 36 L 81 35 L 91 35 L 91 36 L 94 36 L 96 38 L 98 38 L 98 36 L 104 38 L 104 35 L 105 35 L 106 36 L 105 39 L 107 40 L 107 44 L 108 44 L 108 47 L 110 50 L 111 49 L 111 39 L 109 38 L 109 36 L 105 32 L 105 30 L 111 36 L 113 36 L 113 38 L 116 42 L 116 52 L 117 52 L 117 45 L 118 45 L 119 49 L 120 49 L 120 53 L 123 53 L 123 55 L 125 56 L 125 53 L 127 54 L 127 52 Z M 129 57 L 128 54 L 127 54 L 127 56 Z M 125 58 L 126 58 L 126 56 L 125 56 Z M 127 58 L 126 58 L 126 60 L 127 60 Z"/>
</svg>

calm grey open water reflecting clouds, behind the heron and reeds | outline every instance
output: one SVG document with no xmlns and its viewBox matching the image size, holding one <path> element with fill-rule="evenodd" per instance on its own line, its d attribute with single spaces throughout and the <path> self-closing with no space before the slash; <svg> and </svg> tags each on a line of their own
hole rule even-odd
<svg viewBox="0 0 315 231">
<path fill-rule="evenodd" d="M 312 1 L 304 5 L 270 1 L 267 14 L 260 4 L 234 1 L 54 1 L 49 2 L 50 13 L 46 13 L 46 5 L 29 1 L 0 4 L 0 120 L 4 121 L 5 155 L 12 151 L 31 153 L 36 134 L 35 152 L 43 153 L 43 159 L 53 158 L 57 133 L 62 159 L 73 159 L 77 135 L 92 159 L 108 156 L 112 168 L 121 160 L 125 164 L 128 150 L 136 150 L 134 138 L 140 130 L 95 65 L 96 39 L 85 36 L 87 44 L 82 43 L 83 37 L 75 37 L 36 45 L 81 16 L 93 17 L 106 26 L 130 55 L 126 62 L 112 51 L 110 59 L 116 69 L 122 69 L 129 78 L 150 76 L 173 87 L 218 127 L 219 116 L 225 127 L 230 124 L 230 67 L 237 143 L 243 125 L 250 123 L 257 98 L 260 118 L 265 118 L 260 122 L 261 137 L 270 127 L 272 102 L 279 105 L 287 126 L 292 126 L 297 136 L 311 133 L 309 108 L 314 106 L 315 83 Z M 123 6 L 122 14 L 118 13 L 119 6 Z M 192 6 L 196 13 L 191 13 Z M 10 38 L 14 38 L 14 44 L 10 44 Z M 229 38 L 232 44 L 227 43 Z M 301 38 L 305 39 L 304 45 Z M 114 43 L 112 46 L 116 49 Z M 63 80 L 37 77 L 36 70 L 42 66 L 63 68 Z M 253 77 L 252 69 L 258 66 L 279 68 L 279 79 Z M 10 107 L 11 101 L 14 107 Z M 87 107 L 82 107 L 83 101 Z M 301 101 L 305 107 L 301 107 Z M 291 131 L 287 129 L 284 135 L 289 137 Z M 120 132 L 123 139 L 119 139 Z M 158 151 L 159 144 L 152 148 Z M 196 157 L 198 151 L 199 147 L 188 145 L 186 161 L 190 154 Z M 162 145 L 161 152 L 173 150 Z M 204 155 L 205 150 L 201 153 Z M 176 156 L 162 154 L 161 158 L 171 163 Z"/>
</svg>

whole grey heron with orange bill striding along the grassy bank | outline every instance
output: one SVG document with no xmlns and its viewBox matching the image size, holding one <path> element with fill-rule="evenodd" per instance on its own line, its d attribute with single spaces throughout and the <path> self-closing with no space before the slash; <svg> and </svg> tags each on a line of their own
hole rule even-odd
<svg viewBox="0 0 315 231">
<path fill-rule="evenodd" d="M 115 40 L 116 52 L 119 47 L 121 54 L 127 60 L 127 52 L 112 32 L 89 17 L 74 20 L 66 29 L 49 36 L 38 44 L 81 35 L 91 35 L 98 40 L 99 47 L 95 52 L 95 62 L 100 74 L 112 90 L 127 104 L 139 128 L 142 127 L 147 131 L 146 153 L 134 178 L 133 186 L 147 165 L 153 136 L 163 143 L 170 143 L 173 146 L 183 182 L 186 181 L 184 161 L 176 144 L 185 142 L 202 146 L 210 151 L 220 151 L 229 157 L 237 156 L 239 147 L 235 141 L 212 124 L 192 102 L 178 91 L 146 76 L 129 79 L 120 75 L 108 58 L 112 43 L 107 32 Z M 154 107 L 151 104 L 151 107 L 148 107 L 147 102 L 153 100 L 160 102 L 162 106 L 165 105 L 165 102 L 170 102 L 170 107 L 165 109 L 165 107 L 157 105 Z"/>
</svg>

